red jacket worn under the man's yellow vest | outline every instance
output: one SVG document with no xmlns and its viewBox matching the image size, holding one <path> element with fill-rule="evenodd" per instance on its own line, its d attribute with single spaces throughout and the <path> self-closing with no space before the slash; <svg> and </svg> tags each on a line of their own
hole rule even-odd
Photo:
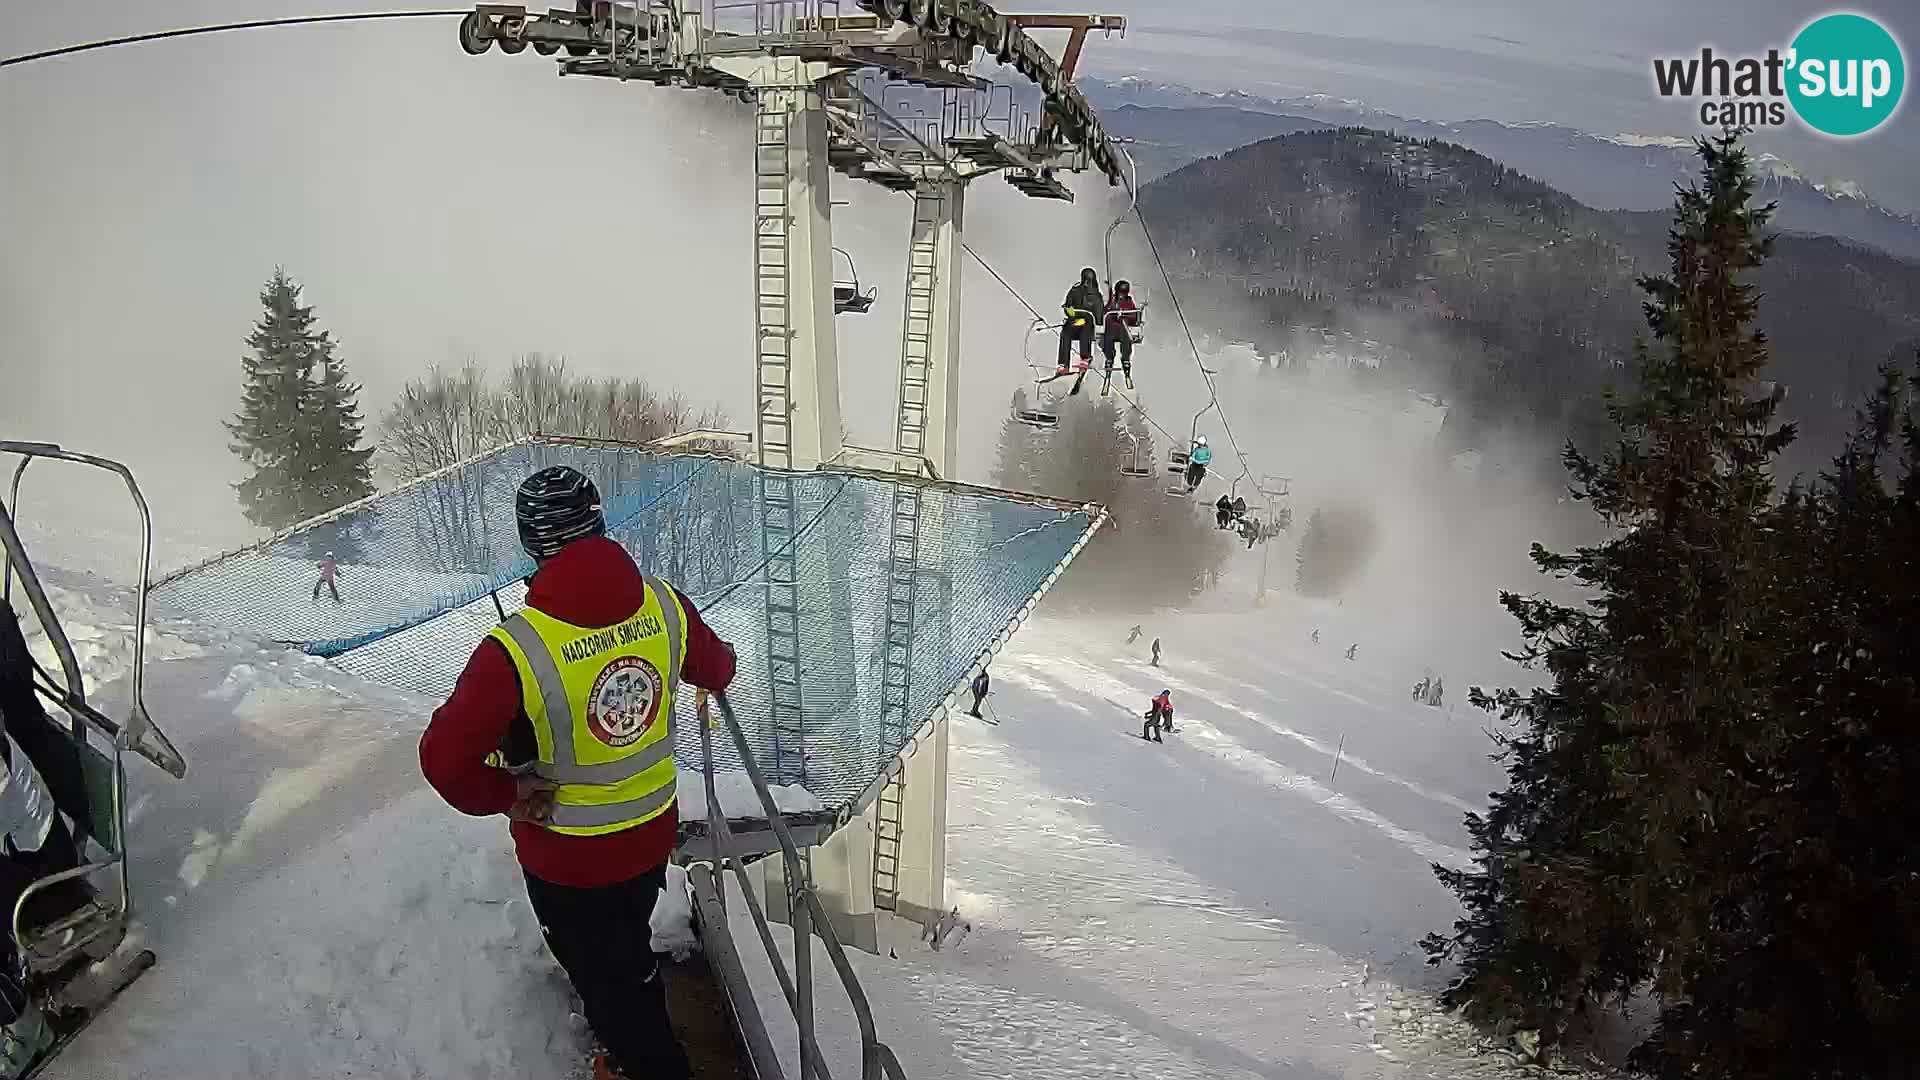
<svg viewBox="0 0 1920 1080">
<path fill-rule="evenodd" d="M 664 584 L 664 582 L 655 582 Z M 678 592 L 676 592 L 678 596 Z M 576 626 L 616 626 L 645 603 L 639 567 L 624 548 L 605 536 L 576 540 L 534 575 L 526 605 Z M 733 680 L 733 650 L 687 609 L 684 682 L 726 690 Z M 515 730 L 518 728 L 518 730 Z M 532 723 L 520 709 L 520 676 L 507 650 L 486 638 L 467 661 L 447 703 L 420 736 L 420 773 L 453 809 L 490 817 L 513 807 L 513 774 L 486 757 L 513 742 L 532 746 Z M 597 888 L 636 878 L 674 851 L 680 813 L 605 836 L 568 836 L 532 822 L 513 822 L 520 867 L 557 886 Z"/>
</svg>

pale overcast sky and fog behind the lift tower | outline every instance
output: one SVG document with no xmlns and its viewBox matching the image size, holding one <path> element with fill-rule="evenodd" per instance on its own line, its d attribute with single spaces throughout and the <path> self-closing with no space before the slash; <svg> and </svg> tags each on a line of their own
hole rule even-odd
<svg viewBox="0 0 1920 1080">
<path fill-rule="evenodd" d="M 380 4 L 15 2 L 0 54 L 369 8 Z M 1692 117 L 1653 98 L 1651 54 L 1784 44 L 1818 12 L 1784 0 L 1104 10 L 1137 19 L 1125 42 L 1089 50 L 1104 75 L 1325 92 L 1427 119 L 1674 135 Z M 1912 4 L 1891 21 L 1920 40 Z M 1920 209 L 1914 117 L 1853 144 L 1789 136 L 1774 148 L 1814 177 L 1860 179 Z M 749 140 L 739 106 L 712 94 L 555 79 L 534 54 L 467 58 L 451 19 L 217 35 L 0 69 L 0 432 L 131 455 L 175 511 L 169 528 L 207 542 L 244 534 L 219 421 L 238 404 L 242 340 L 275 265 L 305 282 L 371 415 L 428 365 L 501 367 L 545 350 L 724 404 L 745 427 Z M 1100 261 L 1116 213 L 1096 184 L 1060 208 L 975 184 L 970 240 L 1050 307 L 1077 267 Z M 849 202 L 835 240 L 881 286 L 872 317 L 839 321 L 849 427 L 879 444 L 891 434 L 908 200 L 849 183 L 835 198 Z M 1027 315 L 977 269 L 966 290 L 960 457 L 966 479 L 985 479 L 1006 398 L 1027 375 Z"/>
</svg>

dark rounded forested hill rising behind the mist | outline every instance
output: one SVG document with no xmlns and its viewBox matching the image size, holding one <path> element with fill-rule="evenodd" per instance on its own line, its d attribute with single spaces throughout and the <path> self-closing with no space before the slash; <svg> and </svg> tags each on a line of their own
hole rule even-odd
<svg viewBox="0 0 1920 1080">
<path fill-rule="evenodd" d="M 1194 161 L 1140 206 L 1183 294 L 1263 350 L 1352 332 L 1382 375 L 1453 405 L 1450 436 L 1605 430 L 1603 390 L 1644 332 L 1636 279 L 1667 258 L 1659 213 L 1605 213 L 1480 154 L 1365 129 L 1308 131 Z M 1878 363 L 1920 340 L 1920 265 L 1782 236 L 1755 277 L 1789 467 L 1824 461 Z"/>
</svg>

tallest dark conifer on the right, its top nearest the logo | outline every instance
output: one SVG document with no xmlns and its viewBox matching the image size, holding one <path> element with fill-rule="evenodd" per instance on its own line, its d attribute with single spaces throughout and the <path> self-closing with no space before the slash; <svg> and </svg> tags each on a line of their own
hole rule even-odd
<svg viewBox="0 0 1920 1080">
<path fill-rule="evenodd" d="M 1645 986 L 1668 1005 L 1663 1024 L 1678 1019 L 1715 963 L 1741 813 L 1768 782 L 1757 759 L 1778 744 L 1763 515 L 1793 432 L 1774 423 L 1780 392 L 1755 394 L 1766 340 L 1745 282 L 1772 208 L 1753 206 L 1738 133 L 1697 152 L 1670 275 L 1640 282 L 1653 342 L 1638 350 L 1638 396 L 1609 405 L 1619 444 L 1599 461 L 1565 454 L 1611 538 L 1571 555 L 1534 546 L 1544 573 L 1594 600 L 1501 596 L 1521 663 L 1551 686 L 1473 692 L 1517 728 L 1509 786 L 1467 819 L 1476 869 L 1434 867 L 1467 907 L 1425 942 L 1434 963 L 1461 961 L 1448 1001 L 1548 1045 L 1576 1013 Z"/>
</svg>

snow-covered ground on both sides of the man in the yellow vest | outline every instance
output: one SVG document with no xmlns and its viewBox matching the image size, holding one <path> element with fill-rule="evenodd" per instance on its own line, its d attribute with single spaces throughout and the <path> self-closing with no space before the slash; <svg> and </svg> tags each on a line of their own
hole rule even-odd
<svg viewBox="0 0 1920 1080">
<path fill-rule="evenodd" d="M 46 577 L 88 669 L 123 663 L 125 592 Z M 1498 780 L 1484 717 L 1407 701 L 1436 657 L 1286 596 L 1152 619 L 1133 648 L 1125 623 L 1037 619 L 993 667 L 1000 723 L 956 721 L 948 872 L 970 930 L 854 957 L 908 1072 L 1519 1074 L 1430 1007 L 1413 947 L 1453 917 L 1428 863 L 1465 857 L 1461 811 Z M 159 965 L 48 1076 L 580 1074 L 503 822 L 419 778 L 436 701 L 165 611 L 150 655 L 152 711 L 194 763 L 184 782 L 134 765 L 140 938 Z M 1482 659 L 1446 671 L 1453 694 L 1501 675 Z M 1179 732 L 1144 744 L 1162 686 Z M 816 972 L 851 1068 L 843 997 Z"/>
</svg>

